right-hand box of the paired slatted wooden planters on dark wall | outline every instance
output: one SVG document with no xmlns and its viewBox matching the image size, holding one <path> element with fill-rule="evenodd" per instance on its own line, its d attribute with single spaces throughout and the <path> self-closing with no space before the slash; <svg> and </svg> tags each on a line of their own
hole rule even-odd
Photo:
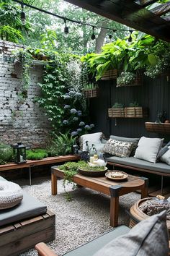
<svg viewBox="0 0 170 256">
<path fill-rule="evenodd" d="M 143 118 L 148 116 L 148 109 L 143 107 L 126 107 L 125 117 L 128 118 Z"/>
</svg>

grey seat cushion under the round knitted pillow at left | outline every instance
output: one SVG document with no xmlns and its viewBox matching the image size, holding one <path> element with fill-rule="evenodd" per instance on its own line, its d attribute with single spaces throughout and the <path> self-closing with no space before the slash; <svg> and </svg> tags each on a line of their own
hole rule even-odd
<svg viewBox="0 0 170 256">
<path fill-rule="evenodd" d="M 0 180 L 5 180 L 0 176 Z M 23 190 L 23 199 L 13 208 L 0 210 L 0 226 L 46 213 L 47 207 Z"/>
</svg>

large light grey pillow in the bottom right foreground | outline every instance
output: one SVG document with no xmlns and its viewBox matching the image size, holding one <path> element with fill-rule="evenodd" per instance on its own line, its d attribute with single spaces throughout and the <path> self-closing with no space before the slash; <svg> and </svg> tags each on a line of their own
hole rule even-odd
<svg viewBox="0 0 170 256">
<path fill-rule="evenodd" d="M 168 256 L 169 237 L 166 211 L 134 226 L 128 234 L 117 237 L 94 256 Z"/>
</svg>

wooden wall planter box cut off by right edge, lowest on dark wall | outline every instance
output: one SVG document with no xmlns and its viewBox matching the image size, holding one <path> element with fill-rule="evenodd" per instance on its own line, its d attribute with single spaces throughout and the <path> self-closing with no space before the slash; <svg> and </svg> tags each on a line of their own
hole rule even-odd
<svg viewBox="0 0 170 256">
<path fill-rule="evenodd" d="M 170 124 L 169 123 L 152 123 L 146 122 L 146 129 L 148 132 L 156 132 L 161 134 L 170 134 Z"/>
</svg>

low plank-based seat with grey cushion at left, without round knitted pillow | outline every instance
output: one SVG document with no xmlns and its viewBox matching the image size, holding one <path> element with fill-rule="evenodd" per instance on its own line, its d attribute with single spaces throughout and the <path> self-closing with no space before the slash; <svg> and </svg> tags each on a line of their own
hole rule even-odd
<svg viewBox="0 0 170 256">
<path fill-rule="evenodd" d="M 0 176 L 0 181 L 6 181 Z M 14 256 L 55 239 L 55 214 L 24 190 L 23 199 L 12 208 L 0 210 L 0 255 Z"/>
</svg>

